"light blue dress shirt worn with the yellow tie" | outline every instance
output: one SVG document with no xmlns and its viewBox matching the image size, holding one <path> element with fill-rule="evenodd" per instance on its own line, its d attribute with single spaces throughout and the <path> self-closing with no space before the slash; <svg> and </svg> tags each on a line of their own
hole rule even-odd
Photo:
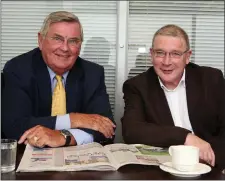
<svg viewBox="0 0 225 181">
<path fill-rule="evenodd" d="M 48 72 L 49 72 L 49 75 L 51 78 L 52 93 L 53 93 L 54 88 L 57 83 L 57 80 L 55 78 L 56 74 L 49 67 L 48 67 Z M 68 73 L 69 72 L 65 72 L 62 75 L 62 77 L 63 77 L 62 82 L 63 82 L 64 87 L 66 85 L 66 79 L 67 79 Z M 91 143 L 94 141 L 93 135 L 86 133 L 85 131 L 80 130 L 80 129 L 71 129 L 69 114 L 60 115 L 60 116 L 56 117 L 55 130 L 61 130 L 61 129 L 67 129 L 68 131 L 70 131 L 70 133 L 75 138 L 77 145 Z"/>
</svg>

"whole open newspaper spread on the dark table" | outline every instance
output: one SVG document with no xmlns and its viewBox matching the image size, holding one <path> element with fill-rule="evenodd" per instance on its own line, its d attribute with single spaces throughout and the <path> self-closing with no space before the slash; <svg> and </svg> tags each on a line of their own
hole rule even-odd
<svg viewBox="0 0 225 181">
<path fill-rule="evenodd" d="M 127 164 L 160 165 L 171 161 L 168 149 L 141 144 L 90 143 L 59 148 L 27 145 L 17 172 L 112 171 Z"/>
</svg>

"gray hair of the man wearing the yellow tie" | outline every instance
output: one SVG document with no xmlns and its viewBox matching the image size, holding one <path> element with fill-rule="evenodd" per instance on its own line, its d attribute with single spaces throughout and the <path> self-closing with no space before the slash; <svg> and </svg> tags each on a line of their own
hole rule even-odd
<svg viewBox="0 0 225 181">
<path fill-rule="evenodd" d="M 83 35 L 83 28 L 82 25 L 80 23 L 79 18 L 74 15 L 73 13 L 67 12 L 67 11 L 56 11 L 56 12 L 52 12 L 50 13 L 44 20 L 43 25 L 41 27 L 40 30 L 40 34 L 45 37 L 48 30 L 49 30 L 49 26 L 52 23 L 58 23 L 58 22 L 75 22 L 78 23 L 80 26 L 80 34 L 81 34 L 81 41 L 83 42 L 84 39 L 84 35 Z"/>
</svg>

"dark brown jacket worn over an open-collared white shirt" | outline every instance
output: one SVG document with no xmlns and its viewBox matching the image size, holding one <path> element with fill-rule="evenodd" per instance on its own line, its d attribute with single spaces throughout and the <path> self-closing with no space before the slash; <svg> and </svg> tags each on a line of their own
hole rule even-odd
<svg viewBox="0 0 225 181">
<path fill-rule="evenodd" d="M 211 144 L 216 161 L 220 162 L 222 156 L 225 158 L 223 74 L 215 68 L 189 63 L 186 66 L 185 81 L 188 113 L 193 131 Z M 125 110 L 121 121 L 126 143 L 161 147 L 184 144 L 190 131 L 174 126 L 166 96 L 153 67 L 127 80 L 123 92 Z M 224 165 L 225 159 L 222 161 Z"/>
</svg>

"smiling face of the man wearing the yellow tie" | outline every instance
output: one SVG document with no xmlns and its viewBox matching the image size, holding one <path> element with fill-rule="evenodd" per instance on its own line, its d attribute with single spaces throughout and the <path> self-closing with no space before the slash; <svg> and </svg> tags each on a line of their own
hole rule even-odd
<svg viewBox="0 0 225 181">
<path fill-rule="evenodd" d="M 62 75 L 72 68 L 80 54 L 80 26 L 75 22 L 53 23 L 45 37 L 38 34 L 38 43 L 45 63 Z"/>
</svg>

